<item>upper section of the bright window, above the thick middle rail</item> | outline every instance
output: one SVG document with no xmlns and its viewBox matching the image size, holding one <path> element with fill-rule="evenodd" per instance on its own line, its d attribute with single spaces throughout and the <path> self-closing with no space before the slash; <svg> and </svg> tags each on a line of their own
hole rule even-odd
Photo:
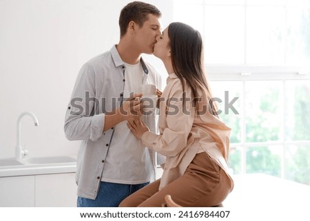
<svg viewBox="0 0 310 221">
<path fill-rule="evenodd" d="M 309 0 L 174 1 L 205 39 L 207 64 L 309 65 Z"/>
</svg>

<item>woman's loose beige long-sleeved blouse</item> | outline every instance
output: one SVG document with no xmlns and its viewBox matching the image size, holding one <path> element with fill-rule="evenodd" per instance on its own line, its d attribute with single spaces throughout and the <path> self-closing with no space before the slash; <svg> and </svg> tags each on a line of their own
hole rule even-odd
<svg viewBox="0 0 310 221">
<path fill-rule="evenodd" d="M 188 85 L 185 85 L 185 92 L 183 106 L 182 83 L 176 74 L 169 74 L 160 100 L 160 134 L 145 132 L 141 138 L 144 145 L 167 157 L 159 189 L 182 176 L 194 156 L 203 151 L 229 176 L 227 162 L 231 129 L 209 113 L 205 95 L 199 103 L 200 112 L 196 112 L 192 105 L 194 96 Z"/>
</svg>

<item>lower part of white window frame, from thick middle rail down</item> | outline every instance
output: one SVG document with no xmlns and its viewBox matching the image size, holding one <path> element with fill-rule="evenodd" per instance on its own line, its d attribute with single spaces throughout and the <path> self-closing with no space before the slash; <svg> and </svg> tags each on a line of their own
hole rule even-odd
<svg viewBox="0 0 310 221">
<path fill-rule="evenodd" d="M 245 93 L 246 81 L 282 81 L 282 87 L 285 88 L 286 81 L 291 80 L 310 80 L 310 67 L 302 66 L 264 66 L 264 65 L 205 65 L 207 78 L 212 87 L 212 81 L 241 81 L 242 92 Z M 285 90 L 283 90 L 285 92 Z M 285 97 L 285 94 L 284 96 Z M 245 113 L 245 96 L 241 98 L 242 113 Z M 269 145 L 282 146 L 281 155 L 281 178 L 285 178 L 285 150 L 289 145 L 309 145 L 310 140 L 285 140 L 285 99 L 281 101 L 283 107 L 283 116 L 281 120 L 281 139 L 277 141 L 255 142 L 249 143 L 246 141 L 246 123 L 245 114 L 240 115 L 241 120 L 241 142 L 230 143 L 231 149 L 241 147 L 241 174 L 247 173 L 247 148 L 248 147 L 262 147 Z"/>
</svg>

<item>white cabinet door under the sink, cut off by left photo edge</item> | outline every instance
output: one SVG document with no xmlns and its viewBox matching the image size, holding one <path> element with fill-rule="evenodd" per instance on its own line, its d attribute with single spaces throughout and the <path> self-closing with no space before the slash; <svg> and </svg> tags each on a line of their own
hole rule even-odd
<svg viewBox="0 0 310 221">
<path fill-rule="evenodd" d="M 34 176 L 0 178 L 0 207 L 34 207 Z"/>
</svg>

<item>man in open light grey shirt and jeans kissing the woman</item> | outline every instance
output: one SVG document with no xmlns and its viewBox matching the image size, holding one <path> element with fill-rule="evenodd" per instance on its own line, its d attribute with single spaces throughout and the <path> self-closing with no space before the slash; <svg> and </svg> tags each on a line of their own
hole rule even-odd
<svg viewBox="0 0 310 221">
<path fill-rule="evenodd" d="M 127 127 L 141 117 L 152 131 L 155 114 L 142 115 L 143 84 L 161 88 L 161 77 L 141 54 L 152 54 L 161 34 L 161 12 L 134 1 L 121 10 L 118 45 L 79 72 L 65 116 L 65 136 L 83 140 L 77 159 L 78 207 L 118 207 L 134 191 L 154 180 L 155 153 Z M 128 99 L 127 99 L 128 98 Z"/>
</svg>

